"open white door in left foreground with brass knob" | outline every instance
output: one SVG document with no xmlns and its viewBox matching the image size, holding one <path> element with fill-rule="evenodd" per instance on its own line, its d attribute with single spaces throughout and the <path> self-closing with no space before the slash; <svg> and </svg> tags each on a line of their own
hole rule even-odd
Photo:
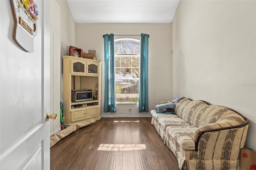
<svg viewBox="0 0 256 170">
<path fill-rule="evenodd" d="M 29 53 L 13 39 L 10 0 L 0 0 L 1 170 L 50 169 L 49 1 L 34 3 L 39 11 L 38 30 L 34 52 Z"/>
</svg>

